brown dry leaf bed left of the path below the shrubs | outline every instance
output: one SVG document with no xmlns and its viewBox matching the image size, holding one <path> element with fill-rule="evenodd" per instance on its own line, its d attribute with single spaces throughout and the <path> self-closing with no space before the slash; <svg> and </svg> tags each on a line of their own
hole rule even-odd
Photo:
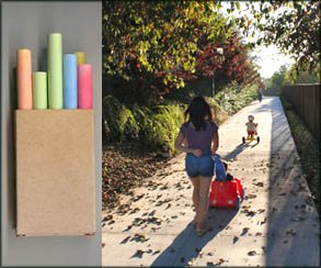
<svg viewBox="0 0 321 268">
<path fill-rule="evenodd" d="M 119 204 L 118 193 L 133 194 L 134 187 L 141 186 L 146 178 L 164 167 L 168 159 L 156 153 L 141 152 L 135 144 L 108 144 L 103 146 L 102 186 L 103 210 Z M 157 187 L 148 182 L 149 187 Z M 135 197 L 134 197 L 135 198 Z M 137 201 L 139 198 L 135 198 Z"/>
</svg>

